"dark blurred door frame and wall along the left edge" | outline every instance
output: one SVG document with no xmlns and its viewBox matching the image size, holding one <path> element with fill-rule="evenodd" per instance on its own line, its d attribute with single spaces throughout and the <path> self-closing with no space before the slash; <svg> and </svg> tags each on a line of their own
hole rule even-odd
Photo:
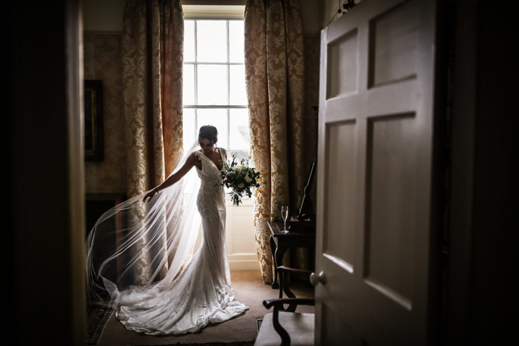
<svg viewBox="0 0 519 346">
<path fill-rule="evenodd" d="M 80 4 L 7 7 L 8 337 L 85 344 Z"/>
</svg>

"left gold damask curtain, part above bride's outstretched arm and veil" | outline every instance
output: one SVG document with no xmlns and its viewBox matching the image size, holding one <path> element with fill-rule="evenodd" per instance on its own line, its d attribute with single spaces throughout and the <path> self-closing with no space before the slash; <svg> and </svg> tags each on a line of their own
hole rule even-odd
<svg viewBox="0 0 519 346">
<path fill-rule="evenodd" d="M 129 0 L 123 25 L 122 87 L 131 198 L 163 182 L 183 155 L 180 0 Z"/>
</svg>

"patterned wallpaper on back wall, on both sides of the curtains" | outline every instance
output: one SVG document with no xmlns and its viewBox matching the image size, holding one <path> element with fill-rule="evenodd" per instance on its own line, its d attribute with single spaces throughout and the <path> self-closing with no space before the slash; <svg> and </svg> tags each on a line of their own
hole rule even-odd
<svg viewBox="0 0 519 346">
<path fill-rule="evenodd" d="M 102 80 L 104 101 L 104 160 L 85 162 L 87 193 L 126 192 L 120 39 L 118 34 L 84 35 L 84 78 Z M 319 41 L 319 35 L 304 37 L 305 112 L 312 115 L 312 106 L 319 105 Z M 314 123 L 308 124 L 305 137 L 310 143 L 316 143 Z M 315 150 L 310 150 L 312 160 L 316 155 Z M 312 198 L 315 201 L 313 189 Z"/>
</svg>

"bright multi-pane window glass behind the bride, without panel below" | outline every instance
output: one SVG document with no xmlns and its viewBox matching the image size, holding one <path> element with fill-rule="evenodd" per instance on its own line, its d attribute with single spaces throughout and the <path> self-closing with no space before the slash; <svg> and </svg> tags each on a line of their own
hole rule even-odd
<svg viewBox="0 0 519 346">
<path fill-rule="evenodd" d="M 248 157 L 243 19 L 184 20 L 183 112 L 185 149 L 211 124 L 229 158 Z"/>
</svg>

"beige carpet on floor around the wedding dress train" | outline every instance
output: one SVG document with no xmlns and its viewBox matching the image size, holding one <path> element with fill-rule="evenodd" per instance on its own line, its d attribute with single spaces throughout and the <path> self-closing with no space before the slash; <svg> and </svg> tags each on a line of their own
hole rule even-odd
<svg viewBox="0 0 519 346">
<path fill-rule="evenodd" d="M 117 321 L 114 313 L 106 323 L 98 345 L 164 345 L 254 340 L 257 335 L 256 320 L 269 312 L 263 306 L 263 300 L 278 298 L 279 291 L 262 283 L 260 271 L 231 271 L 231 281 L 236 300 L 249 307 L 244 314 L 232 320 L 209 325 L 196 334 L 151 336 L 126 329 Z M 313 287 L 306 282 L 294 282 L 291 288 L 298 298 L 313 298 Z M 313 312 L 313 307 L 301 306 L 296 311 Z"/>
</svg>

